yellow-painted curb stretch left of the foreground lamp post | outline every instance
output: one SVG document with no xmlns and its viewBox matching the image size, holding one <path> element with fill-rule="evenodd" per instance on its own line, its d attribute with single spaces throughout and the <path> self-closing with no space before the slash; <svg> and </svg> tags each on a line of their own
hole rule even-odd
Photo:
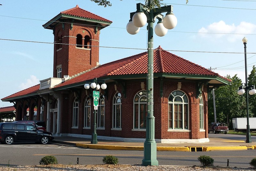
<svg viewBox="0 0 256 171">
<path fill-rule="evenodd" d="M 143 151 L 143 147 L 138 146 L 117 146 L 117 145 L 91 145 L 91 144 L 76 144 L 78 147 L 84 147 L 95 150 L 134 150 Z"/>
</svg>

